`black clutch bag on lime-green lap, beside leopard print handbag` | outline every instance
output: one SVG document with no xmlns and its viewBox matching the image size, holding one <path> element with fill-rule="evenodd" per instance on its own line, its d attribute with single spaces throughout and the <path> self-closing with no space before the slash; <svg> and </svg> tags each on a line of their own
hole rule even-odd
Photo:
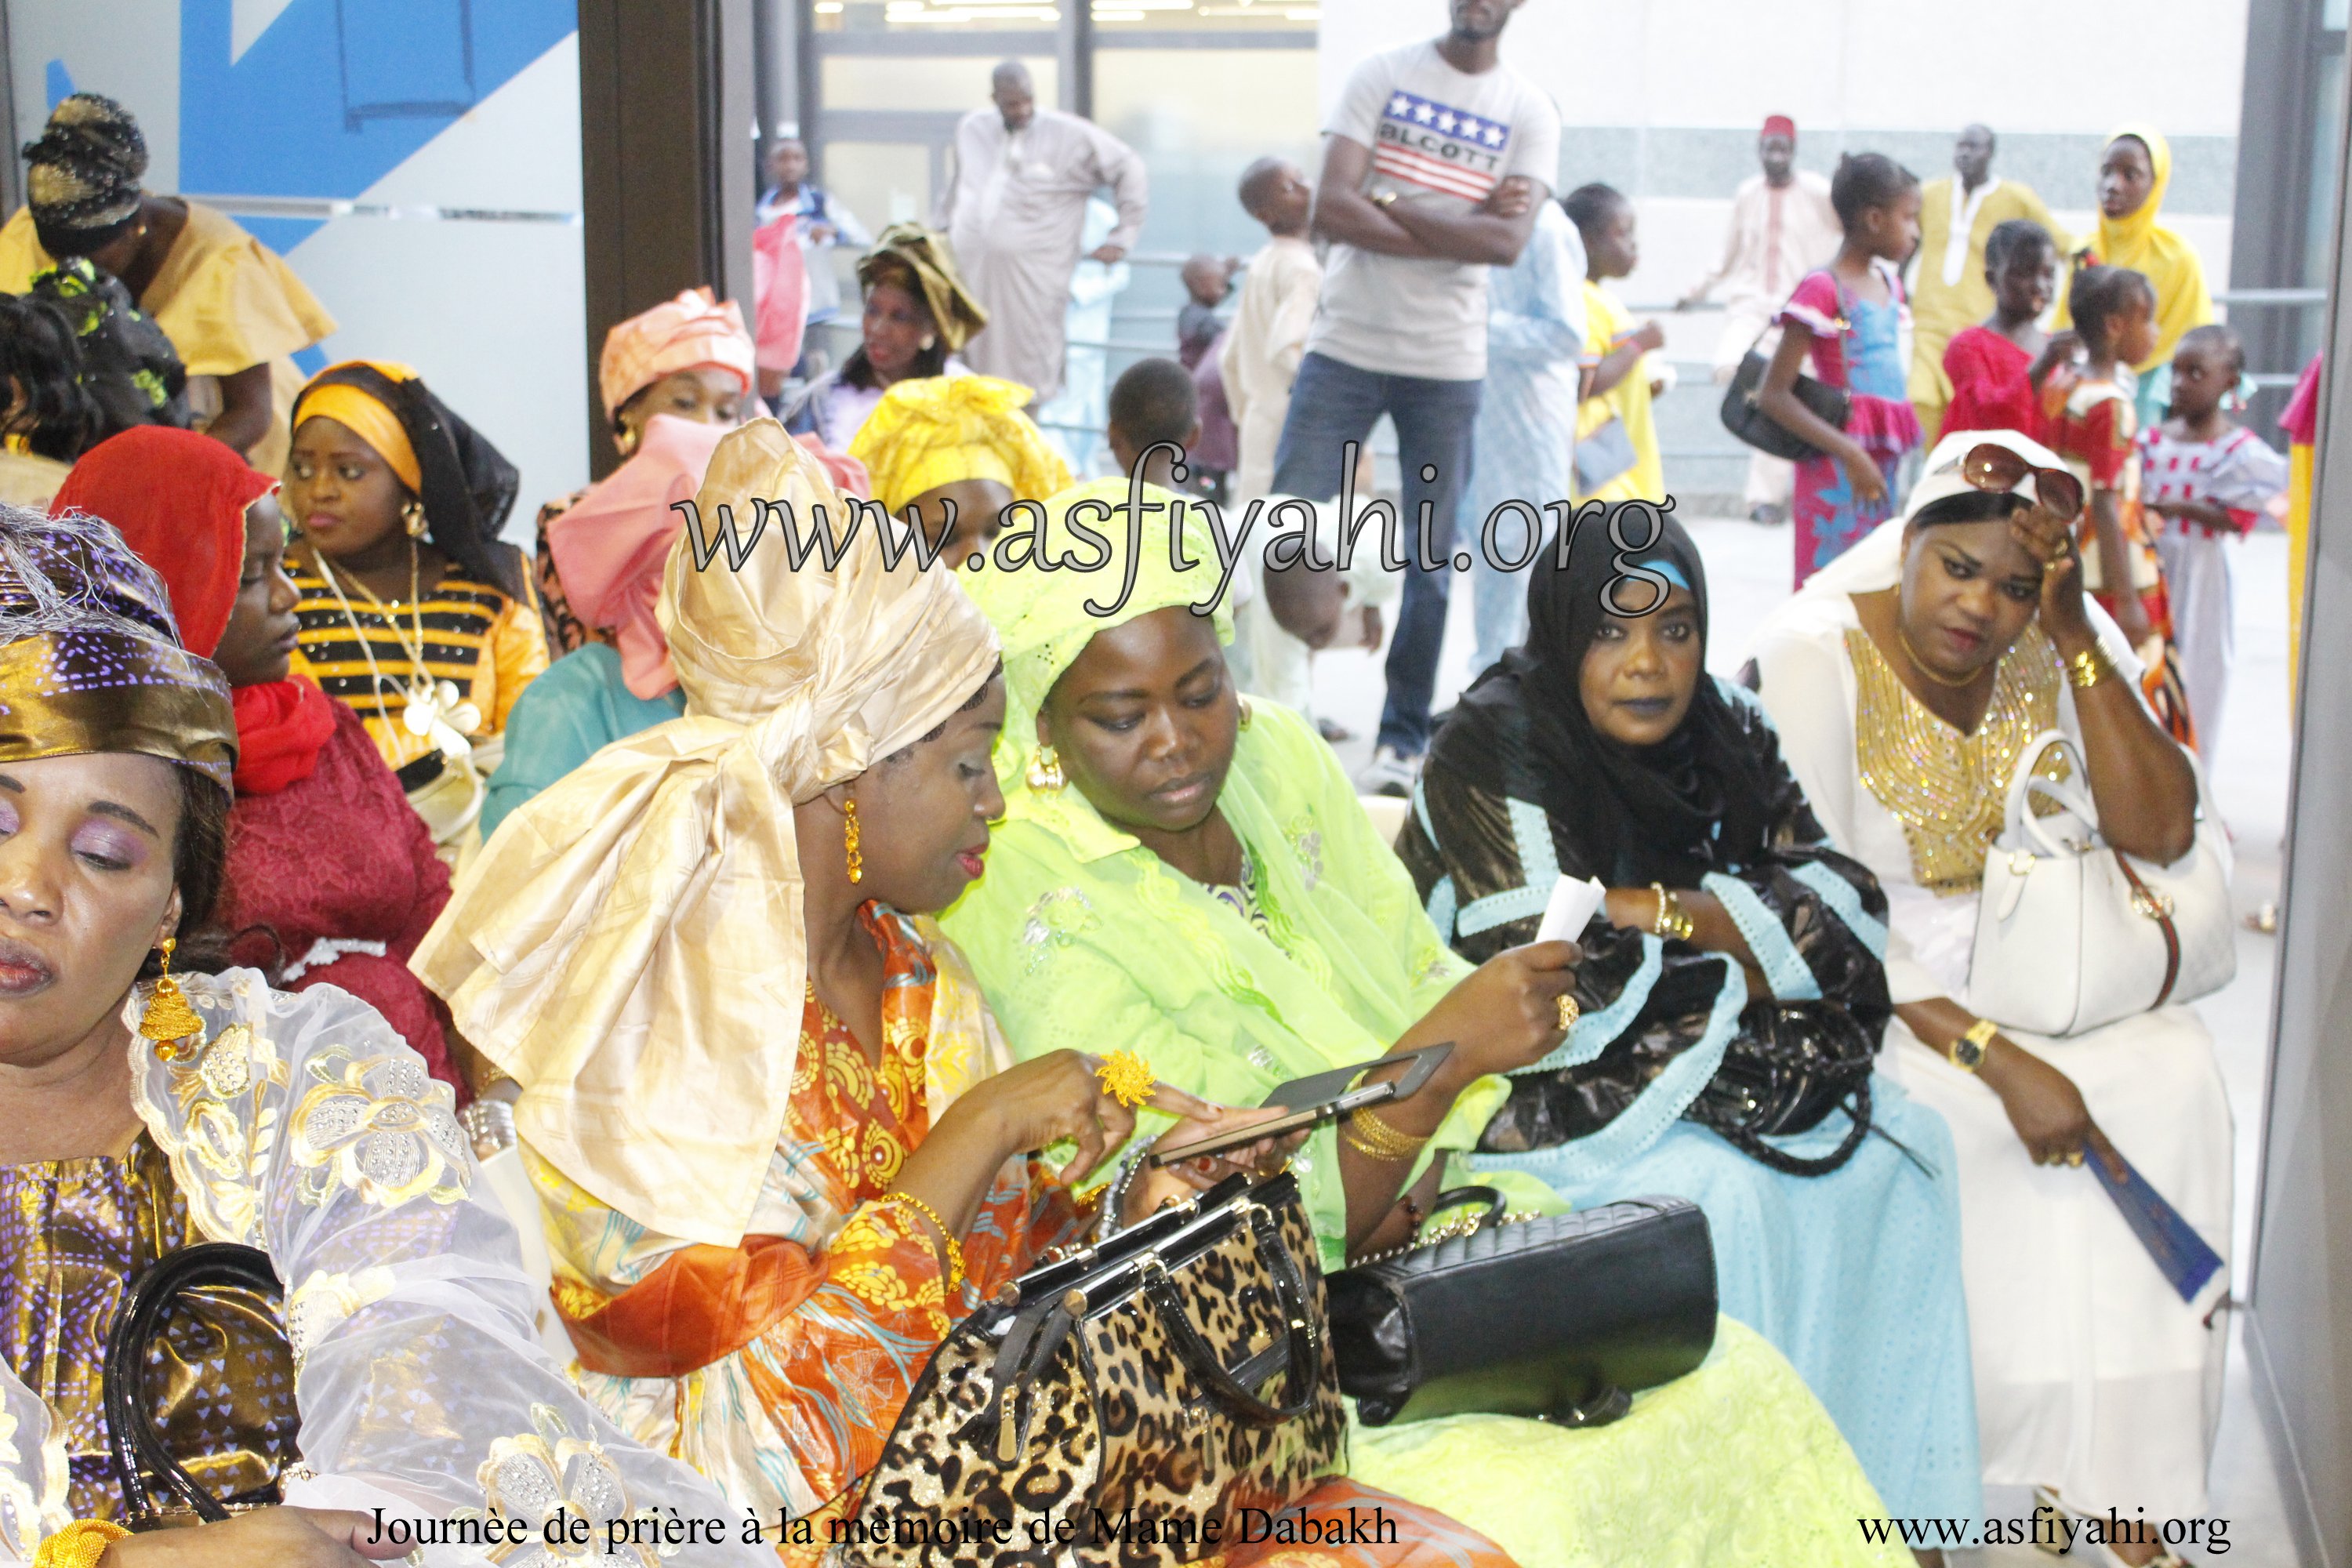
<svg viewBox="0 0 2352 1568">
<path fill-rule="evenodd" d="M 1505 1215 L 1494 1187 L 1456 1187 L 1437 1208 L 1472 1201 L 1486 1213 L 1327 1281 L 1338 1385 L 1367 1427 L 1465 1413 L 1599 1427 L 1708 1359 L 1715 1241 L 1696 1204 Z"/>
</svg>

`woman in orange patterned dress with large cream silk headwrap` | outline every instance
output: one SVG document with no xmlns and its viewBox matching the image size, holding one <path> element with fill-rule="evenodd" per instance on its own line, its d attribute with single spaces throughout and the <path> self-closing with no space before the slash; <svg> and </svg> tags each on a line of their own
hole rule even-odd
<svg viewBox="0 0 2352 1568">
<path fill-rule="evenodd" d="M 720 442 L 699 510 L 746 515 L 750 496 L 837 505 L 771 421 Z M 793 1516 L 779 1552 L 814 1563 L 955 1319 L 1094 1234 L 1098 1201 L 1073 1182 L 1134 1112 L 1091 1056 L 1011 1065 L 929 917 L 978 877 L 1004 811 L 988 623 L 953 574 L 891 569 L 870 534 L 833 569 L 795 569 L 779 534 L 741 569 L 673 555 L 661 618 L 687 717 L 517 809 L 416 971 L 522 1086 L 583 1387 L 729 1502 Z M 1169 1088 L 1152 1105 L 1183 1117 L 1176 1140 L 1240 1114 Z M 1063 1140 L 1058 1171 L 1035 1154 Z M 1228 1168 L 1138 1173 L 1117 1218 Z M 1341 1479 L 1305 1500 L 1350 1507 L 1378 1507 L 1397 1542 L 1225 1561 L 1510 1563 Z"/>
</svg>

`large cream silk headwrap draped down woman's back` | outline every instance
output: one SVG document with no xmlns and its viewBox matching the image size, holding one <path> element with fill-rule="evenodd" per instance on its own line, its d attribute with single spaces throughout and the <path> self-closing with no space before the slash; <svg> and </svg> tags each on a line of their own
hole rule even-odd
<svg viewBox="0 0 2352 1568">
<path fill-rule="evenodd" d="M 771 418 L 720 442 L 699 494 L 844 515 Z M 783 1133 L 807 983 L 793 806 L 955 712 L 997 663 L 948 571 L 884 569 L 873 529 L 795 571 L 769 520 L 741 571 L 680 536 L 661 628 L 687 717 L 607 745 L 501 823 L 412 969 L 522 1084 L 515 1126 L 663 1234 L 734 1246 Z"/>
</svg>

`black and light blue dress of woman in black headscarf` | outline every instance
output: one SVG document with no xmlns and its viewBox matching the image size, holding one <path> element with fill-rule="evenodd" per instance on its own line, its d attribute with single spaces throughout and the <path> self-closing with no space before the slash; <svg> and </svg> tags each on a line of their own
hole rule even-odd
<svg viewBox="0 0 2352 1568">
<path fill-rule="evenodd" d="M 1743 966 L 1719 952 L 1595 917 L 1581 936 L 1583 1016 L 1559 1051 L 1515 1074 L 1482 1138 L 1486 1152 L 1470 1164 L 1534 1175 L 1576 1208 L 1646 1194 L 1698 1204 L 1722 1312 L 1790 1359 L 1886 1509 L 1976 1519 L 1983 1486 L 1950 1126 L 1872 1072 L 1872 1133 L 1835 1171 L 1797 1175 L 1684 1119 L 1731 1041 L 1766 1018 L 1790 1039 L 1875 1046 L 1889 1016 L 1877 882 L 1828 846 L 1755 698 L 1729 682 L 1719 689 L 1778 785 L 1762 849 L 1717 853 L 1722 870 L 1700 886 L 1738 924 L 1771 1001 L 1752 1004 Z M 1515 743 L 1505 733 L 1496 748 Z M 1486 959 L 1534 940 L 1562 872 L 1606 882 L 1609 867 L 1564 865 L 1578 853 L 1573 832 L 1555 835 L 1543 806 L 1468 780 L 1444 750 L 1439 741 L 1421 773 L 1397 853 L 1437 929 L 1463 957 Z M 1609 1112 L 1583 1131 L 1592 1103 Z M 1764 1145 L 1820 1159 L 1851 1126 L 1839 1107 Z"/>
</svg>

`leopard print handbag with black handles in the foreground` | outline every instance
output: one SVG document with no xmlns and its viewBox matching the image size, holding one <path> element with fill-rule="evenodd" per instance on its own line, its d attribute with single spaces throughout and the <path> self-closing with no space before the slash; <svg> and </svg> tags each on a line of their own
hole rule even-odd
<svg viewBox="0 0 2352 1568">
<path fill-rule="evenodd" d="M 1190 1563 L 1343 1469 L 1343 1434 L 1298 1180 L 1230 1175 L 957 1324 L 828 1563 Z"/>
</svg>

